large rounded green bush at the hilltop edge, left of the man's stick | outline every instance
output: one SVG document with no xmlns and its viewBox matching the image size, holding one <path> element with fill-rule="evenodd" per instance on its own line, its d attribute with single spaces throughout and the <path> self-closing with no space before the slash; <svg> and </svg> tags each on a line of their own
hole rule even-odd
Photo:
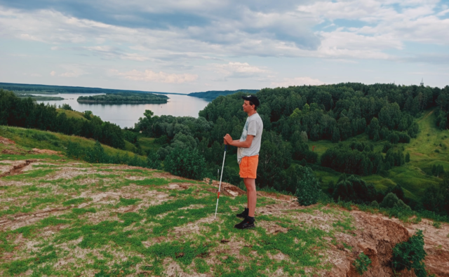
<svg viewBox="0 0 449 277">
<path fill-rule="evenodd" d="M 196 149 L 173 149 L 166 157 L 164 167 L 173 175 L 189 179 L 203 180 L 206 176 L 206 161 Z"/>
</svg>

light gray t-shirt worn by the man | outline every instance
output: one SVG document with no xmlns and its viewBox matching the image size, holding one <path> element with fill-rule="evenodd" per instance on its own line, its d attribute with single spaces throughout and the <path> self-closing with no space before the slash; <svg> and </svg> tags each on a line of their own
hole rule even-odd
<svg viewBox="0 0 449 277">
<path fill-rule="evenodd" d="M 252 116 L 248 116 L 246 119 L 245 127 L 243 127 L 243 132 L 241 133 L 240 141 L 244 142 L 246 136 L 253 135 L 253 142 L 248 148 L 239 147 L 237 149 L 237 160 L 239 164 L 241 159 L 246 156 L 255 156 L 259 154 L 260 151 L 260 141 L 262 140 L 262 131 L 264 130 L 264 123 L 260 118 L 259 114 L 255 113 Z"/>
</svg>

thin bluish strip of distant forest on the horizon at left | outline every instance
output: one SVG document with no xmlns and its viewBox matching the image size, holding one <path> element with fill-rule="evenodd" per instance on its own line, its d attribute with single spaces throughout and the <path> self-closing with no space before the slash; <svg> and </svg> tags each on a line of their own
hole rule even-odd
<svg viewBox="0 0 449 277">
<path fill-rule="evenodd" d="M 0 83 L 0 89 L 1 88 L 20 93 L 158 93 L 154 91 L 141 90 L 114 90 L 109 88 L 85 88 L 82 86 L 46 86 L 27 83 Z"/>
</svg>

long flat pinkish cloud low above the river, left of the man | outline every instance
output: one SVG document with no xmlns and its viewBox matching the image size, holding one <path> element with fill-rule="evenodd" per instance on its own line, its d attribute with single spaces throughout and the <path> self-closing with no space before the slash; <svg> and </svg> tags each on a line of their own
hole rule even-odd
<svg viewBox="0 0 449 277">
<path fill-rule="evenodd" d="M 112 74 L 123 76 L 125 79 L 133 81 L 151 81 L 158 83 L 189 83 L 198 79 L 198 75 L 196 74 L 168 74 L 166 72 L 153 72 L 148 69 L 143 72 L 136 69 L 130 72 L 112 70 Z"/>
</svg>

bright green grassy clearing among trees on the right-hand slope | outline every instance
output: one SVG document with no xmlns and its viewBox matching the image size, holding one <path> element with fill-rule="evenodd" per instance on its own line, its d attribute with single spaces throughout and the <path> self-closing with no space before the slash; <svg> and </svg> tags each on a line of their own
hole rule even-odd
<svg viewBox="0 0 449 277">
<path fill-rule="evenodd" d="M 397 147 L 403 147 L 404 153 L 410 152 L 410 163 L 406 163 L 401 167 L 395 167 L 384 175 L 370 175 L 363 177 L 366 182 L 373 183 L 376 189 L 385 190 L 401 184 L 405 190 L 406 196 L 409 198 L 420 198 L 422 192 L 431 184 L 438 184 L 441 178 L 433 177 L 426 173 L 431 170 L 431 165 L 443 165 L 449 170 L 449 131 L 438 130 L 435 125 L 435 115 L 433 110 L 427 111 L 424 115 L 417 119 L 420 126 L 420 133 L 416 139 L 412 139 L 409 144 L 397 144 Z M 368 142 L 366 134 L 358 135 L 354 138 L 359 142 Z M 343 142 L 349 144 L 351 140 Z M 375 142 L 375 151 L 381 151 L 386 141 Z M 308 142 L 309 147 L 315 146 L 315 150 L 319 156 L 323 154 L 333 143 L 328 140 L 318 142 Z M 440 145 L 441 144 L 441 145 Z M 335 145 L 335 144 L 334 144 Z M 436 152 L 438 149 L 439 153 Z M 317 177 L 321 177 L 323 189 L 327 189 L 328 183 L 337 182 L 341 173 L 337 173 L 329 168 L 315 167 L 314 173 Z M 441 176 L 440 176 L 441 177 Z"/>
</svg>

